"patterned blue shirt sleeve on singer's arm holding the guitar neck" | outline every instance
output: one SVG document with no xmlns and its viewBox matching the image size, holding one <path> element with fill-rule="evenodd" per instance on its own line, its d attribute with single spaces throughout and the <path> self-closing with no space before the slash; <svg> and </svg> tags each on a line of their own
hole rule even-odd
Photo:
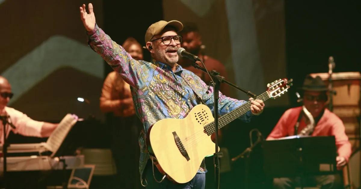
<svg viewBox="0 0 361 189">
<path fill-rule="evenodd" d="M 205 90 L 208 90 L 208 86 L 205 84 L 204 81 L 202 81 L 198 76 L 196 76 L 194 74 L 193 77 L 196 77 L 200 80 L 200 83 L 202 85 L 202 87 Z M 206 106 L 209 107 L 209 109 L 214 113 L 214 90 L 213 87 L 209 87 L 208 90 L 209 94 L 207 93 L 203 93 L 202 99 L 204 101 L 204 103 L 206 104 Z M 242 106 L 243 104 L 247 103 L 247 101 L 245 100 L 237 100 L 237 99 L 233 99 L 230 97 L 227 97 L 225 95 L 223 95 L 221 93 L 221 91 L 219 91 L 219 100 L 218 100 L 218 113 L 219 116 L 223 116 L 226 113 L 229 113 L 231 111 L 233 111 L 234 109 Z M 249 105 L 249 107 L 247 107 L 248 111 L 245 112 L 243 115 L 241 115 L 240 117 L 238 117 L 239 119 L 241 119 L 244 122 L 249 122 L 251 121 L 251 117 L 255 116 L 252 114 L 251 112 L 251 105 Z"/>
</svg>

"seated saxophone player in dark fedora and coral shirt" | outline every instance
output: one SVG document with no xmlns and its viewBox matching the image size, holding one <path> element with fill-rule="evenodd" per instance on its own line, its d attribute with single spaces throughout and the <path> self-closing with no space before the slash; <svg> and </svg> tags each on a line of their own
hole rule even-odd
<svg viewBox="0 0 361 189">
<path fill-rule="evenodd" d="M 300 89 L 303 96 L 303 106 L 290 108 L 284 112 L 266 140 L 293 135 L 335 136 L 338 153 L 336 162 L 337 167 L 340 169 L 351 156 L 351 143 L 348 141 L 342 120 L 326 108 L 327 86 L 321 77 L 313 78 L 308 75 Z M 307 127 L 309 125 L 312 126 Z M 303 181 L 305 185 L 321 185 L 321 188 L 339 188 L 341 185 L 337 180 L 335 175 L 322 175 L 309 176 Z M 299 179 L 273 179 L 274 188 L 294 188 L 297 185 L 299 185 Z"/>
</svg>

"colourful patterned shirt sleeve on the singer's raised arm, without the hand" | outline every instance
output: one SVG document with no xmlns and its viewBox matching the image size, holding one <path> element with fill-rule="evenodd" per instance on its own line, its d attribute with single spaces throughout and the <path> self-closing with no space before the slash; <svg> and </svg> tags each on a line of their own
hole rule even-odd
<svg viewBox="0 0 361 189">
<path fill-rule="evenodd" d="M 96 24 L 95 28 L 87 32 L 88 45 L 98 53 L 116 72 L 121 74 L 124 81 L 129 85 L 138 88 L 141 86 L 142 75 L 146 74 L 144 69 L 145 61 L 133 59 L 125 49 L 114 42 L 109 35 L 106 35 Z"/>
</svg>

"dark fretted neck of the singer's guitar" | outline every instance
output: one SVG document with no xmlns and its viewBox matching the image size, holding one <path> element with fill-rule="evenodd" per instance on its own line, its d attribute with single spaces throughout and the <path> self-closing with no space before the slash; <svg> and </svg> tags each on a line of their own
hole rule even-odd
<svg viewBox="0 0 361 189">
<path fill-rule="evenodd" d="M 269 95 L 266 92 L 262 93 L 257 97 L 257 99 L 262 100 L 265 102 L 269 99 Z M 233 120 L 237 119 L 238 117 L 242 116 L 246 112 L 251 110 L 251 101 L 248 101 L 244 104 L 242 104 L 240 107 L 234 109 L 233 111 L 227 113 L 226 115 L 223 115 L 219 117 L 218 119 L 218 128 L 221 129 L 223 126 L 226 126 L 227 124 L 231 123 Z M 216 132 L 214 121 L 208 125 L 205 126 L 208 135 L 211 135 L 212 133 Z"/>
</svg>

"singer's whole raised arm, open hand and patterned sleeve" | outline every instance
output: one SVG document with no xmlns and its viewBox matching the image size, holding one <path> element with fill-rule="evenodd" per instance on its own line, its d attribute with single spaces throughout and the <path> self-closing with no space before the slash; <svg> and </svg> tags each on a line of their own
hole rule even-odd
<svg viewBox="0 0 361 189">
<path fill-rule="evenodd" d="M 121 74 L 129 85 L 138 88 L 140 86 L 138 83 L 139 78 L 141 78 L 143 70 L 142 66 L 145 66 L 144 63 L 134 60 L 122 46 L 114 42 L 97 26 L 91 3 L 88 4 L 88 11 L 89 13 L 86 12 L 85 4 L 80 7 L 80 16 L 87 30 L 89 46 L 116 72 Z"/>
</svg>

